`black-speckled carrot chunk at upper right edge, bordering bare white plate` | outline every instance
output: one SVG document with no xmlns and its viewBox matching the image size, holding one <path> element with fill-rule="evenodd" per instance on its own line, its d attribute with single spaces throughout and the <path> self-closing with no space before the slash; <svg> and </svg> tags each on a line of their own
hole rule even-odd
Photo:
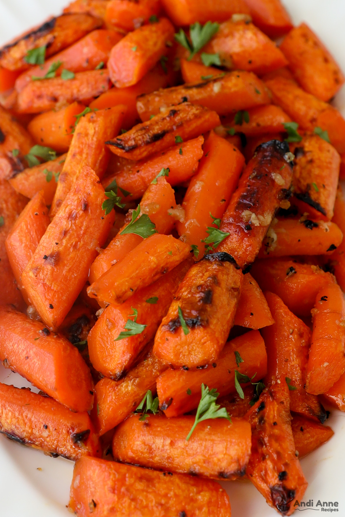
<svg viewBox="0 0 345 517">
<path fill-rule="evenodd" d="M 334 57 L 306 23 L 289 32 L 280 50 L 298 83 L 318 99 L 328 101 L 345 82 Z"/>
</svg>

